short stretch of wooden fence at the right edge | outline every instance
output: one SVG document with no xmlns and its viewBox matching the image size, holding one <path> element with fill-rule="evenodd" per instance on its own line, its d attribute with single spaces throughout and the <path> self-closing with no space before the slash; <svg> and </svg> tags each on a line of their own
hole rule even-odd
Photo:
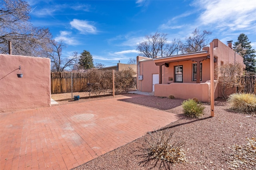
<svg viewBox="0 0 256 170">
<path fill-rule="evenodd" d="M 239 78 L 240 87 L 237 87 L 237 92 L 252 93 L 256 95 L 256 75 L 243 76 Z"/>
</svg>

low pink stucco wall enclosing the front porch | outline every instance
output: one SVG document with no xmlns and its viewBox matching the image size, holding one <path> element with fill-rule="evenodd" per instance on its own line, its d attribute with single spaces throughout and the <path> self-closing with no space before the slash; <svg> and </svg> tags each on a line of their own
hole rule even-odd
<svg viewBox="0 0 256 170">
<path fill-rule="evenodd" d="M 209 102 L 208 83 L 170 83 L 155 84 L 155 96 L 168 97 L 174 95 L 177 99 L 192 99 L 196 97 L 198 101 Z"/>
</svg>

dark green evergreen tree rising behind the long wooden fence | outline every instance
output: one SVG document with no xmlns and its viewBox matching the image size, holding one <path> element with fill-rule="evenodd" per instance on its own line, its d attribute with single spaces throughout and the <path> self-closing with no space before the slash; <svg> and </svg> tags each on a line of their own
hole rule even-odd
<svg viewBox="0 0 256 170">
<path fill-rule="evenodd" d="M 92 55 L 90 54 L 89 51 L 84 50 L 81 53 L 81 55 L 79 56 L 78 64 L 80 69 L 94 68 Z"/>
</svg>

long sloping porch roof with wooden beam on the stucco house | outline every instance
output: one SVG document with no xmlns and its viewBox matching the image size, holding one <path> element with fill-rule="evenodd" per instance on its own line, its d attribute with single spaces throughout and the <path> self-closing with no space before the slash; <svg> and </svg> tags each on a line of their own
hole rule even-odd
<svg viewBox="0 0 256 170">
<path fill-rule="evenodd" d="M 165 63 L 177 62 L 177 61 L 204 61 L 205 59 L 210 58 L 210 53 L 206 50 L 196 51 L 192 53 L 179 54 L 179 55 L 171 55 L 168 57 L 159 57 L 154 58 L 153 61 L 156 65 L 164 65 Z"/>
</svg>

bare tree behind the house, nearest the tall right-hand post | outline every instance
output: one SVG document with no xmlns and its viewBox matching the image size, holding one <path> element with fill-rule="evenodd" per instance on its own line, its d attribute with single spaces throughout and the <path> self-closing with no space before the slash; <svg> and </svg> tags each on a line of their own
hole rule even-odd
<svg viewBox="0 0 256 170">
<path fill-rule="evenodd" d="M 185 39 L 185 43 L 180 45 L 180 51 L 182 53 L 190 53 L 200 51 L 204 46 L 209 45 L 209 38 L 212 32 L 204 30 L 200 32 L 198 28 L 194 30 L 192 36 Z"/>
</svg>

